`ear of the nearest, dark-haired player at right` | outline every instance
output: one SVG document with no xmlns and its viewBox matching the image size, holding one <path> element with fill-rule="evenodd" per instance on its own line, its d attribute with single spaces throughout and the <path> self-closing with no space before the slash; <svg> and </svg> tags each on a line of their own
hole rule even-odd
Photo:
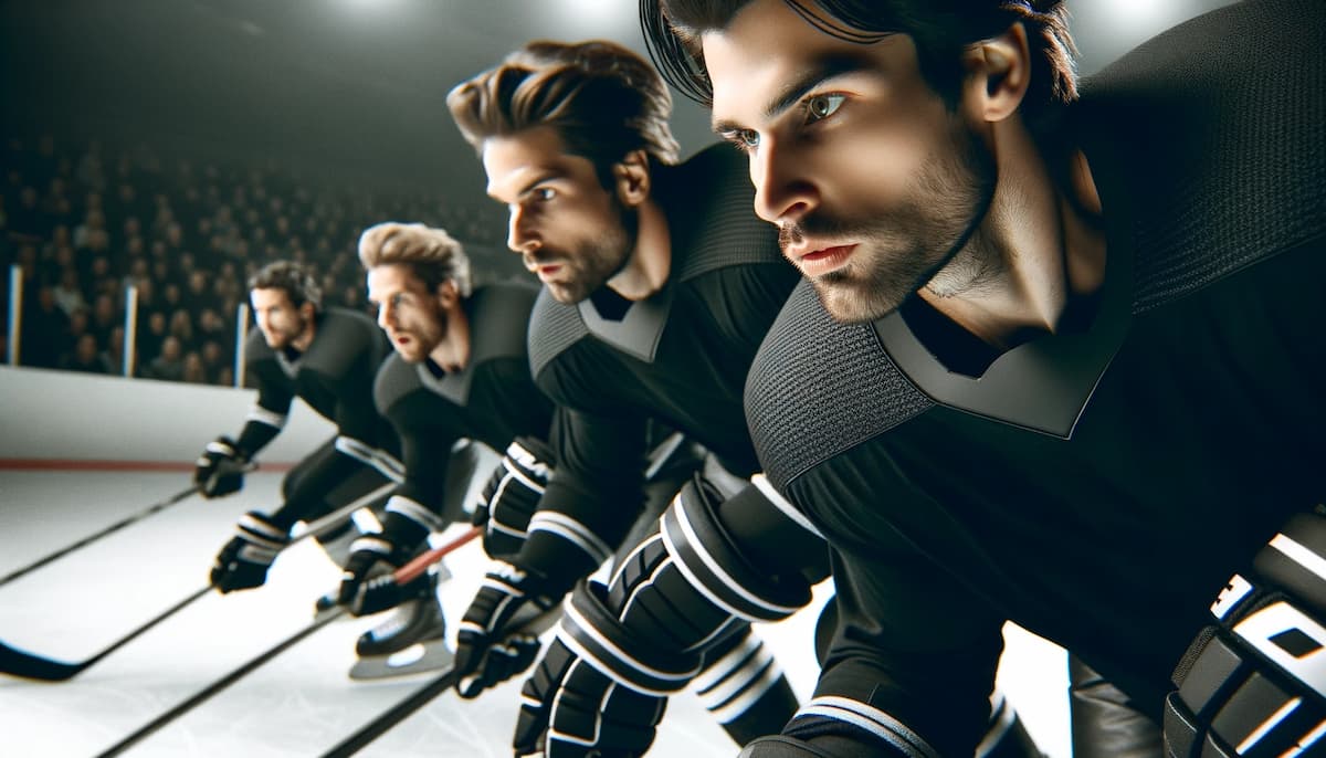
<svg viewBox="0 0 1326 758">
<path fill-rule="evenodd" d="M 963 62 L 963 105 L 971 115 L 998 122 L 1017 111 L 1032 80 L 1032 54 L 1021 21 L 969 46 Z"/>
</svg>

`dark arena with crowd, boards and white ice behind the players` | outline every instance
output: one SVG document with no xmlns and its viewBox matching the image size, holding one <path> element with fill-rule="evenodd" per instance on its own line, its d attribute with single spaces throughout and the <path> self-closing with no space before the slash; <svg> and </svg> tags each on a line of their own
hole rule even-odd
<svg viewBox="0 0 1326 758">
<path fill-rule="evenodd" d="M 1081 73 L 1223 4 L 1070 0 Z M 643 53 L 635 3 L 0 1 L 0 643 L 89 661 L 191 598 L 235 519 L 273 505 L 282 473 L 326 439 L 326 421 L 297 404 L 241 493 L 166 505 L 203 445 L 252 404 L 237 347 L 253 327 L 245 282 L 257 268 L 308 262 L 328 305 L 371 313 L 355 244 L 398 220 L 448 229 L 476 281 L 529 276 L 444 97 L 528 40 L 595 37 Z M 708 115 L 674 99 L 691 155 L 713 140 Z M 469 546 L 447 561 L 440 591 L 455 620 L 485 558 Z M 0 755 L 105 754 L 305 629 L 338 578 L 305 541 L 263 590 L 200 596 L 66 681 L 0 675 Z M 802 697 L 825 592 L 765 629 Z M 326 753 L 426 681 L 349 680 L 370 625 L 300 639 L 127 753 Z M 1006 639 L 1000 685 L 1040 747 L 1066 758 L 1065 656 L 1016 627 Z M 361 754 L 509 755 L 521 681 L 477 701 L 442 693 Z M 674 698 L 651 751 L 733 754 L 690 693 Z"/>
</svg>

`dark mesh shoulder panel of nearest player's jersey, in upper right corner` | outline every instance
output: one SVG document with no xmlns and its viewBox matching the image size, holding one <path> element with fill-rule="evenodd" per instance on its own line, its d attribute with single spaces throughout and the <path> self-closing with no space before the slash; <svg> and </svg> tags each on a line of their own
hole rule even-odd
<svg viewBox="0 0 1326 758">
<path fill-rule="evenodd" d="M 1131 216 L 1136 313 L 1326 237 L 1323 48 L 1326 4 L 1237 3 L 1083 82 L 1073 118 L 1106 219 Z"/>
</svg>

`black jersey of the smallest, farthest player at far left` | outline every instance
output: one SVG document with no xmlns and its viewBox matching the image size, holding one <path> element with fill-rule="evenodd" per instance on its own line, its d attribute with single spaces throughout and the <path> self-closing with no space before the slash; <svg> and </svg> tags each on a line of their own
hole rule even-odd
<svg viewBox="0 0 1326 758">
<path fill-rule="evenodd" d="M 257 388 L 257 406 L 240 435 L 240 448 L 253 455 L 276 436 L 294 398 L 335 424 L 341 437 L 394 452 L 395 433 L 373 407 L 373 382 L 391 354 L 386 335 L 367 315 L 329 307 L 317 317 L 317 331 L 304 354 L 274 351 L 253 330 L 245 345 L 244 370 Z M 293 355 L 293 358 L 292 358 Z"/>
</svg>

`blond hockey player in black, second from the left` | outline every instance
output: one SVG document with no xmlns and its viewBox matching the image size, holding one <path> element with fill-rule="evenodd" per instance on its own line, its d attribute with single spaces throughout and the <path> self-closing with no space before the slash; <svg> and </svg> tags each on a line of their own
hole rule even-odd
<svg viewBox="0 0 1326 758">
<path fill-rule="evenodd" d="M 398 587 L 386 565 L 400 567 L 465 513 L 464 496 L 477 460 L 472 447 L 507 451 L 483 493 L 484 549 L 504 555 L 525 535 L 542 482 L 554 462 L 548 447 L 553 406 L 529 375 L 525 329 L 537 288 L 500 282 L 471 289 L 464 248 L 443 229 L 385 223 L 359 237 L 369 301 L 395 355 L 374 387 L 378 411 L 400 437 L 404 481 L 387 501 L 381 533 L 351 545 L 338 600 L 355 615 L 402 602 L 402 623 L 367 632 L 358 643 L 355 678 L 396 676 L 450 665 L 436 575 Z M 390 632 L 390 633 L 389 633 Z M 424 652 L 392 667 L 392 653 Z M 508 649 L 508 648 L 504 648 Z"/>
</svg>

